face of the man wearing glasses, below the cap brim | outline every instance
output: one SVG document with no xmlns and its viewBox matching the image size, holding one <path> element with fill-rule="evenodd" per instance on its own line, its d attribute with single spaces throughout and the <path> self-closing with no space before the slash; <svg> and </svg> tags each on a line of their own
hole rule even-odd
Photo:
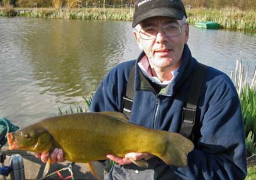
<svg viewBox="0 0 256 180">
<path fill-rule="evenodd" d="M 179 67 L 184 45 L 189 39 L 189 25 L 182 25 L 182 32 L 174 37 L 166 36 L 161 29 L 158 30 L 155 38 L 145 40 L 140 37 L 138 32 L 141 28 L 162 28 L 170 23 L 182 25 L 182 20 L 175 20 L 169 17 L 152 17 L 140 23 L 137 27 L 138 31 L 133 32 L 138 46 L 147 55 L 151 68 L 158 68 L 161 71 L 172 71 Z"/>
</svg>

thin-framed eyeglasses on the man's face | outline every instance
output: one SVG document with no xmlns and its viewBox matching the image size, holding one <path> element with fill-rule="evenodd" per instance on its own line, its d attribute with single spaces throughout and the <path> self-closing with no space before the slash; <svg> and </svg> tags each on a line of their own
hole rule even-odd
<svg viewBox="0 0 256 180">
<path fill-rule="evenodd" d="M 158 30 L 163 30 L 163 33 L 168 37 L 174 37 L 182 33 L 182 26 L 184 24 L 179 25 L 177 23 L 170 23 L 162 28 L 145 27 L 142 28 L 138 33 L 140 34 L 140 37 L 144 40 L 154 39 L 157 36 Z"/>
</svg>

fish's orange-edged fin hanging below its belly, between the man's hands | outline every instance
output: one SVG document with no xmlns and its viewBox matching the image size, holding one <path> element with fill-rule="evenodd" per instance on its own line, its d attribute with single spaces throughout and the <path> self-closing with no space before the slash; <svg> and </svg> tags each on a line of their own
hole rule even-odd
<svg viewBox="0 0 256 180">
<path fill-rule="evenodd" d="M 99 161 L 90 161 L 86 165 L 95 178 L 98 180 L 104 179 L 104 166 L 102 163 Z"/>
</svg>

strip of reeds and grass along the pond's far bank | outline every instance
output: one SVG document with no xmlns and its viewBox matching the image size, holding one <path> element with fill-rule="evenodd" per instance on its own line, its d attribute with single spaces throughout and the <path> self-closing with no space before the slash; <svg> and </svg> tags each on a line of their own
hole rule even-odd
<svg viewBox="0 0 256 180">
<path fill-rule="evenodd" d="M 131 21 L 133 19 L 135 1 L 3 0 L 3 8 L 0 8 L 0 16 L 17 15 L 49 19 Z M 255 0 L 184 0 L 183 2 L 187 9 L 190 24 L 194 25 L 198 21 L 215 21 L 224 29 L 256 32 Z M 13 7 L 22 7 L 22 9 L 13 9 L 10 5 L 13 5 Z M 27 8 L 33 9 L 24 12 L 24 9 L 27 10 Z"/>
</svg>

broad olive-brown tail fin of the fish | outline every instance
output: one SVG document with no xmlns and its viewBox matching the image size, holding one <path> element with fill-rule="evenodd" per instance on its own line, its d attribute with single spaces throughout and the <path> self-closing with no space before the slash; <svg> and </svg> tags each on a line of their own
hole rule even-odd
<svg viewBox="0 0 256 180">
<path fill-rule="evenodd" d="M 193 142 L 177 133 L 164 132 L 163 134 L 163 148 L 157 156 L 166 164 L 186 167 L 187 154 L 194 149 Z"/>
</svg>

